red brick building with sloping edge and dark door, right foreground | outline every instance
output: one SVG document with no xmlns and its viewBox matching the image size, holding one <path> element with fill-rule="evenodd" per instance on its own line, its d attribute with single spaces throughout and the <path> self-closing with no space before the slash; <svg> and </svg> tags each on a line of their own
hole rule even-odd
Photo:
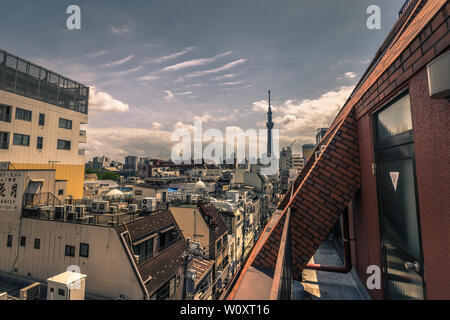
<svg viewBox="0 0 450 320">
<path fill-rule="evenodd" d="M 450 299 L 449 13 L 405 3 L 223 298 L 291 299 L 313 269 L 356 274 L 372 299 Z M 340 217 L 344 266 L 312 265 Z"/>
</svg>

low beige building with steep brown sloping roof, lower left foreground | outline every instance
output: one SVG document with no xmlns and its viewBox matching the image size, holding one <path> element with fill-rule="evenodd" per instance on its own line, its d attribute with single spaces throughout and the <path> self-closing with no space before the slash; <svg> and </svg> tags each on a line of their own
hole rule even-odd
<svg viewBox="0 0 450 320">
<path fill-rule="evenodd" d="M 54 177 L 54 170 L 0 171 L 6 191 L 0 273 L 45 284 L 76 266 L 87 275 L 86 292 L 93 299 L 181 298 L 185 241 L 170 212 L 140 217 L 128 211 L 97 214 L 85 205 L 78 206 L 80 213 L 77 205 L 67 210 L 52 196 Z"/>
</svg>

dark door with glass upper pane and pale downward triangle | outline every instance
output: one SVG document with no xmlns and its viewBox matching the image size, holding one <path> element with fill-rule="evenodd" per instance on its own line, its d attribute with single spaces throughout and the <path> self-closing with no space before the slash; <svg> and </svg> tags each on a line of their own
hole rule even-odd
<svg viewBox="0 0 450 320">
<path fill-rule="evenodd" d="M 385 297 L 424 299 L 409 96 L 377 113 L 375 126 Z"/>
</svg>

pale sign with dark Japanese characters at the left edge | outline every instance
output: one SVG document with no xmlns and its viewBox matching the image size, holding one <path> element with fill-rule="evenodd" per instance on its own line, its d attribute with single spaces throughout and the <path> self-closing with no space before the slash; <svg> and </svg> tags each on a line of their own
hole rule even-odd
<svg viewBox="0 0 450 320">
<path fill-rule="evenodd" d="M 22 208 L 23 172 L 0 171 L 0 211 Z"/>
</svg>

